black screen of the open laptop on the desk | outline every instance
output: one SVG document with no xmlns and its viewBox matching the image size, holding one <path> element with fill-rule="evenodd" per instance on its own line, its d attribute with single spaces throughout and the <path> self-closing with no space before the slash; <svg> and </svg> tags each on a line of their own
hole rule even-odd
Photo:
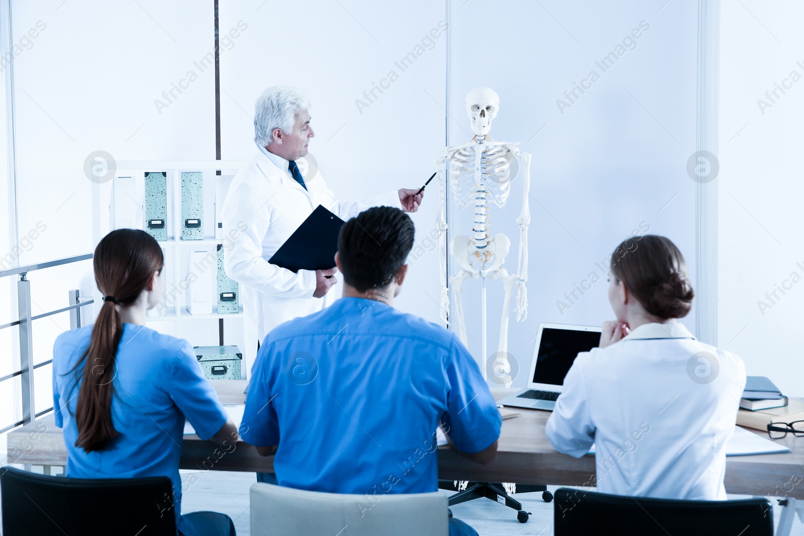
<svg viewBox="0 0 804 536">
<path fill-rule="evenodd" d="M 600 344 L 599 331 L 578 329 L 542 329 L 539 354 L 533 371 L 534 383 L 564 385 L 564 376 L 578 353 L 588 352 Z"/>
</svg>

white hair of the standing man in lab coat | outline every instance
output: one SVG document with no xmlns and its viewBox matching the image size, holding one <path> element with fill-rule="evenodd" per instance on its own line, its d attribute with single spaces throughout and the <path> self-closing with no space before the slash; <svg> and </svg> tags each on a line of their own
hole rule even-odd
<svg viewBox="0 0 804 536">
<path fill-rule="evenodd" d="M 293 132 L 296 113 L 310 109 L 310 99 L 301 89 L 273 86 L 254 104 L 254 141 L 265 147 L 273 141 L 273 129 Z"/>
</svg>

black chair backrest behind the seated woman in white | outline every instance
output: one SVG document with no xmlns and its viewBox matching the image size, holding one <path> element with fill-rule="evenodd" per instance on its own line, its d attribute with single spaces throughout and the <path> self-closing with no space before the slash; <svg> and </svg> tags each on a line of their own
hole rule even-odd
<svg viewBox="0 0 804 536">
<path fill-rule="evenodd" d="M 556 489 L 556 536 L 773 536 L 773 511 L 765 498 L 740 501 L 677 501 Z"/>
</svg>

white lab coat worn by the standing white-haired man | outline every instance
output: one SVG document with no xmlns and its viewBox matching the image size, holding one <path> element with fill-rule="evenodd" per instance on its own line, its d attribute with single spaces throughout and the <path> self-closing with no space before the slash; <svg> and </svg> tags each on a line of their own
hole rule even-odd
<svg viewBox="0 0 804 536">
<path fill-rule="evenodd" d="M 313 270 L 293 273 L 268 262 L 319 204 L 344 220 L 369 207 L 401 208 L 396 190 L 338 203 L 318 170 L 305 184 L 307 190 L 289 174 L 287 160 L 256 145 L 254 158 L 232 179 L 221 211 L 224 268 L 240 284 L 246 324 L 256 326 L 260 341 L 277 325 L 322 309 L 322 298 L 313 297 Z"/>
</svg>

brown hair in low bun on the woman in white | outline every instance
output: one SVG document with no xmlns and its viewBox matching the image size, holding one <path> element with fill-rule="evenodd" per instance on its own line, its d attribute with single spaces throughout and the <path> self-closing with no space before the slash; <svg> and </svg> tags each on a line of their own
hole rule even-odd
<svg viewBox="0 0 804 536">
<path fill-rule="evenodd" d="M 695 291 L 687 263 L 670 239 L 658 235 L 624 240 L 611 256 L 613 276 L 654 317 L 686 317 Z"/>
</svg>

